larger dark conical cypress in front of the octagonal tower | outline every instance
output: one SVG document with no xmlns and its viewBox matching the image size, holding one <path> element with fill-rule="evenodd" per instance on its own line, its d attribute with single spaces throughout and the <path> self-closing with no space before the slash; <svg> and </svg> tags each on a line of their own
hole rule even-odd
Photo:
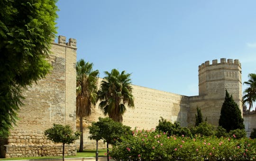
<svg viewBox="0 0 256 161">
<path fill-rule="evenodd" d="M 226 90 L 225 101 L 222 104 L 219 126 L 225 128 L 227 132 L 235 129 L 244 129 L 245 125 L 243 123 L 244 119 L 241 115 L 241 110 L 238 108 L 238 104 L 234 102 L 232 95 L 229 96 Z"/>
</svg>

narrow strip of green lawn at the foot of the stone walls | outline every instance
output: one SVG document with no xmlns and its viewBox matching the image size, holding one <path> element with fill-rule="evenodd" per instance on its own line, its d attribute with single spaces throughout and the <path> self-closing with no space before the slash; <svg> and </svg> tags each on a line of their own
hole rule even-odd
<svg viewBox="0 0 256 161">
<path fill-rule="evenodd" d="M 107 149 L 99 149 L 99 157 L 106 156 Z M 83 152 L 77 152 L 76 155 L 65 156 L 65 158 L 85 158 L 85 157 L 95 157 L 96 149 L 94 150 L 84 150 Z M 0 158 L 0 161 L 8 161 L 8 160 L 29 160 L 29 159 L 62 159 L 62 156 L 57 157 L 18 157 L 18 158 Z"/>
</svg>

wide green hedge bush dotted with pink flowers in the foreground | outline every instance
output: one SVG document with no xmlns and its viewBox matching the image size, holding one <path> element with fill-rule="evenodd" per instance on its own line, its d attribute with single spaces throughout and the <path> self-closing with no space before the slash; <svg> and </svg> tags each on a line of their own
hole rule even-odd
<svg viewBox="0 0 256 161">
<path fill-rule="evenodd" d="M 254 160 L 256 157 L 256 142 L 248 138 L 167 136 L 154 130 L 132 133 L 113 145 L 110 156 L 114 160 Z"/>
</svg>

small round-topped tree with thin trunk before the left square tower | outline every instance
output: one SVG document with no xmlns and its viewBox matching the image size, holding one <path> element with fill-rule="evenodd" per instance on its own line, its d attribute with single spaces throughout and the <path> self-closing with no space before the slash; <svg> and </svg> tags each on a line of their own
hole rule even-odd
<svg viewBox="0 0 256 161">
<path fill-rule="evenodd" d="M 60 125 L 54 124 L 54 127 L 49 128 L 45 131 L 45 135 L 47 139 L 55 142 L 55 143 L 62 143 L 63 150 L 62 150 L 62 160 L 64 161 L 64 148 L 65 144 L 71 144 L 75 140 L 77 140 L 80 136 L 79 132 L 75 132 L 73 135 L 73 131 L 69 125 Z"/>
</svg>

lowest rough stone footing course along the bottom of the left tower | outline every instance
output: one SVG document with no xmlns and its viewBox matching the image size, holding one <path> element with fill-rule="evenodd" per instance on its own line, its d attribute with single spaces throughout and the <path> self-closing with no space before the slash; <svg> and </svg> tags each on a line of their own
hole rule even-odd
<svg viewBox="0 0 256 161">
<path fill-rule="evenodd" d="M 37 157 L 37 156 L 62 156 L 62 144 L 46 145 L 4 145 L 5 158 L 13 157 Z M 75 144 L 65 145 L 65 155 L 76 155 Z"/>
</svg>

